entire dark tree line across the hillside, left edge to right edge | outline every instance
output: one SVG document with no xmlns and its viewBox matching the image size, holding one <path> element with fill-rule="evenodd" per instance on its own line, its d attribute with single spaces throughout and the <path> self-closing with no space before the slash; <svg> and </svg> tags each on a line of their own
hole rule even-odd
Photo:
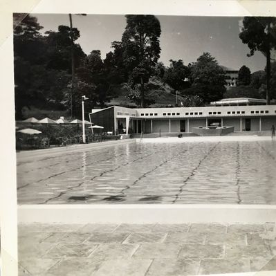
<svg viewBox="0 0 276 276">
<path fill-rule="evenodd" d="M 169 84 L 172 93 L 182 95 L 185 106 L 208 104 L 226 95 L 225 73 L 210 53 L 203 53 L 187 65 L 181 59 L 171 59 L 169 66 L 158 62 L 161 28 L 153 15 L 126 15 L 122 39 L 111 42 L 112 50 L 105 59 L 100 50 L 91 50 L 89 55 L 83 52 L 77 44 L 80 31 L 73 24 L 42 35 L 43 27 L 36 17 L 15 14 L 14 22 L 17 119 L 22 118 L 24 107 L 32 106 L 68 110 L 73 117 L 79 116 L 82 95 L 89 98 L 89 110 L 104 107 L 116 98 L 118 90 L 125 91 L 138 106 L 146 107 L 154 103 L 148 96 L 153 86 L 150 80 Z M 275 18 L 245 17 L 240 37 L 248 44 L 250 55 L 255 50 L 266 55 L 267 65 L 264 72 L 253 74 L 242 66 L 236 94 L 242 95 L 243 86 L 246 91 L 252 87 L 266 93 L 269 102 L 276 92 L 276 66 L 270 64 L 270 51 L 276 45 Z"/>
</svg>

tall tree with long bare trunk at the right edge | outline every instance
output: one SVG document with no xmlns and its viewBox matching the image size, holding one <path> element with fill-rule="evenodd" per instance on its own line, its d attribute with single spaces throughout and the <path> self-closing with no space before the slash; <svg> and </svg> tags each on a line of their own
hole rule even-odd
<svg viewBox="0 0 276 276">
<path fill-rule="evenodd" d="M 270 104 L 270 51 L 276 47 L 276 18 L 244 17 L 239 37 L 250 48 L 248 57 L 256 50 L 266 56 L 266 104 Z"/>
</svg>

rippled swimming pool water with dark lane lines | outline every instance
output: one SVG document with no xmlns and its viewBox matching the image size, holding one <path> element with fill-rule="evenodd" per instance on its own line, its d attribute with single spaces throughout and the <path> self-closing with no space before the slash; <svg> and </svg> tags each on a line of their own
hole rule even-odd
<svg viewBox="0 0 276 276">
<path fill-rule="evenodd" d="M 276 203 L 276 142 L 138 143 L 19 160 L 28 203 Z"/>
</svg>

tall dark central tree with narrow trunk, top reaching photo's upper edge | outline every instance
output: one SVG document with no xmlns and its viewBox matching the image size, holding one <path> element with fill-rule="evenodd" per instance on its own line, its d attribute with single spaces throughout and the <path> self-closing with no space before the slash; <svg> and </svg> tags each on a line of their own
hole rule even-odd
<svg viewBox="0 0 276 276">
<path fill-rule="evenodd" d="M 154 15 L 126 15 L 122 35 L 122 57 L 133 84 L 140 83 L 141 107 L 144 107 L 145 82 L 148 82 L 160 57 L 160 23 Z"/>
</svg>

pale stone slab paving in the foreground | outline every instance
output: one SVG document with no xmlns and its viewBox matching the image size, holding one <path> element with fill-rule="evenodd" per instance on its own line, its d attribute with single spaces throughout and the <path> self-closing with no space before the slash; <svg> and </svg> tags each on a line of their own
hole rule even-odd
<svg viewBox="0 0 276 276">
<path fill-rule="evenodd" d="M 276 270 L 274 224 L 19 225 L 19 276 Z"/>
</svg>

